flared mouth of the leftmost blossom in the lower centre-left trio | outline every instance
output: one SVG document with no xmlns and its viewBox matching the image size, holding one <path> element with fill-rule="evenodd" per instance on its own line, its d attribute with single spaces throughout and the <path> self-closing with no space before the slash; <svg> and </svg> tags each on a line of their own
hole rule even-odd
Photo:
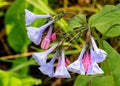
<svg viewBox="0 0 120 86">
<path fill-rule="evenodd" d="M 41 52 L 32 54 L 32 57 L 37 61 L 39 65 L 44 65 L 46 64 L 47 55 L 48 54 L 46 52 Z"/>
</svg>

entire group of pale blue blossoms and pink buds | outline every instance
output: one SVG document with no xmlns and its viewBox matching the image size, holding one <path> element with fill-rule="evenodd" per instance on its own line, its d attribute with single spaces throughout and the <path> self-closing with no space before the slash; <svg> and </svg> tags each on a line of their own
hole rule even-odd
<svg viewBox="0 0 120 86">
<path fill-rule="evenodd" d="M 70 78 L 71 75 L 68 71 L 82 75 L 104 73 L 103 70 L 99 67 L 98 63 L 105 60 L 107 53 L 97 47 L 97 44 L 91 34 L 89 36 L 89 41 L 84 44 L 78 59 L 70 63 L 69 59 L 65 56 L 63 41 L 58 41 L 49 48 L 50 42 L 56 39 L 56 33 L 53 32 L 53 28 L 51 26 L 55 20 L 50 20 L 40 28 L 30 26 L 31 23 L 33 23 L 37 18 L 51 18 L 52 16 L 37 15 L 28 10 L 25 10 L 25 15 L 27 34 L 29 39 L 36 45 L 41 44 L 41 48 L 45 49 L 44 52 L 36 52 L 32 55 L 32 57 L 40 65 L 39 70 L 43 74 L 48 75 L 49 77 Z M 49 28 L 48 33 L 42 40 L 42 35 L 47 28 Z M 53 51 L 56 51 L 54 56 L 49 62 L 47 62 L 48 55 Z M 55 68 L 54 63 L 57 59 L 58 63 Z"/>
</svg>

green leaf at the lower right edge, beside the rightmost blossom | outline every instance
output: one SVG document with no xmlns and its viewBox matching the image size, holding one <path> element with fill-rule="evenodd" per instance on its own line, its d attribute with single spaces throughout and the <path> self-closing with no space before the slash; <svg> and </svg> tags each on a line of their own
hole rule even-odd
<svg viewBox="0 0 120 86">
<path fill-rule="evenodd" d="M 112 48 L 107 42 L 103 42 L 105 51 L 108 53 L 107 61 L 109 71 L 114 77 L 115 86 L 120 86 L 120 54 Z"/>
</svg>

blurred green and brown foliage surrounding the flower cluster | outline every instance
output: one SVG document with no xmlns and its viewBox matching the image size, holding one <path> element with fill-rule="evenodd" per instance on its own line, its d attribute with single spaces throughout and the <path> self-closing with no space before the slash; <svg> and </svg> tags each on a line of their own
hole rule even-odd
<svg viewBox="0 0 120 86">
<path fill-rule="evenodd" d="M 106 5 L 109 4 L 109 5 Z M 27 37 L 24 9 L 37 14 L 74 12 L 87 21 L 100 48 L 107 53 L 101 63 L 105 74 L 83 76 L 72 74 L 71 79 L 55 79 L 43 75 L 31 58 L 41 51 Z M 83 25 L 78 17 L 68 15 L 69 22 L 57 22 L 65 32 Z M 45 19 L 37 20 L 40 26 Z M 120 86 L 120 4 L 119 0 L 0 0 L 0 86 Z M 82 38 L 66 51 L 73 61 L 78 56 Z M 66 43 L 67 44 L 67 43 Z"/>
</svg>

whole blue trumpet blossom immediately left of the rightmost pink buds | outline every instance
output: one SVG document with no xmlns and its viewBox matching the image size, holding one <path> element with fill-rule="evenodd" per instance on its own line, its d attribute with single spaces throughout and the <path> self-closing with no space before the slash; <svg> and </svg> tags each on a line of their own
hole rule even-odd
<svg viewBox="0 0 120 86">
<path fill-rule="evenodd" d="M 85 48 L 86 46 L 84 45 L 78 59 L 67 67 L 69 71 L 78 73 L 78 74 L 85 74 L 84 66 L 82 64 L 82 57 L 85 53 Z"/>
</svg>

